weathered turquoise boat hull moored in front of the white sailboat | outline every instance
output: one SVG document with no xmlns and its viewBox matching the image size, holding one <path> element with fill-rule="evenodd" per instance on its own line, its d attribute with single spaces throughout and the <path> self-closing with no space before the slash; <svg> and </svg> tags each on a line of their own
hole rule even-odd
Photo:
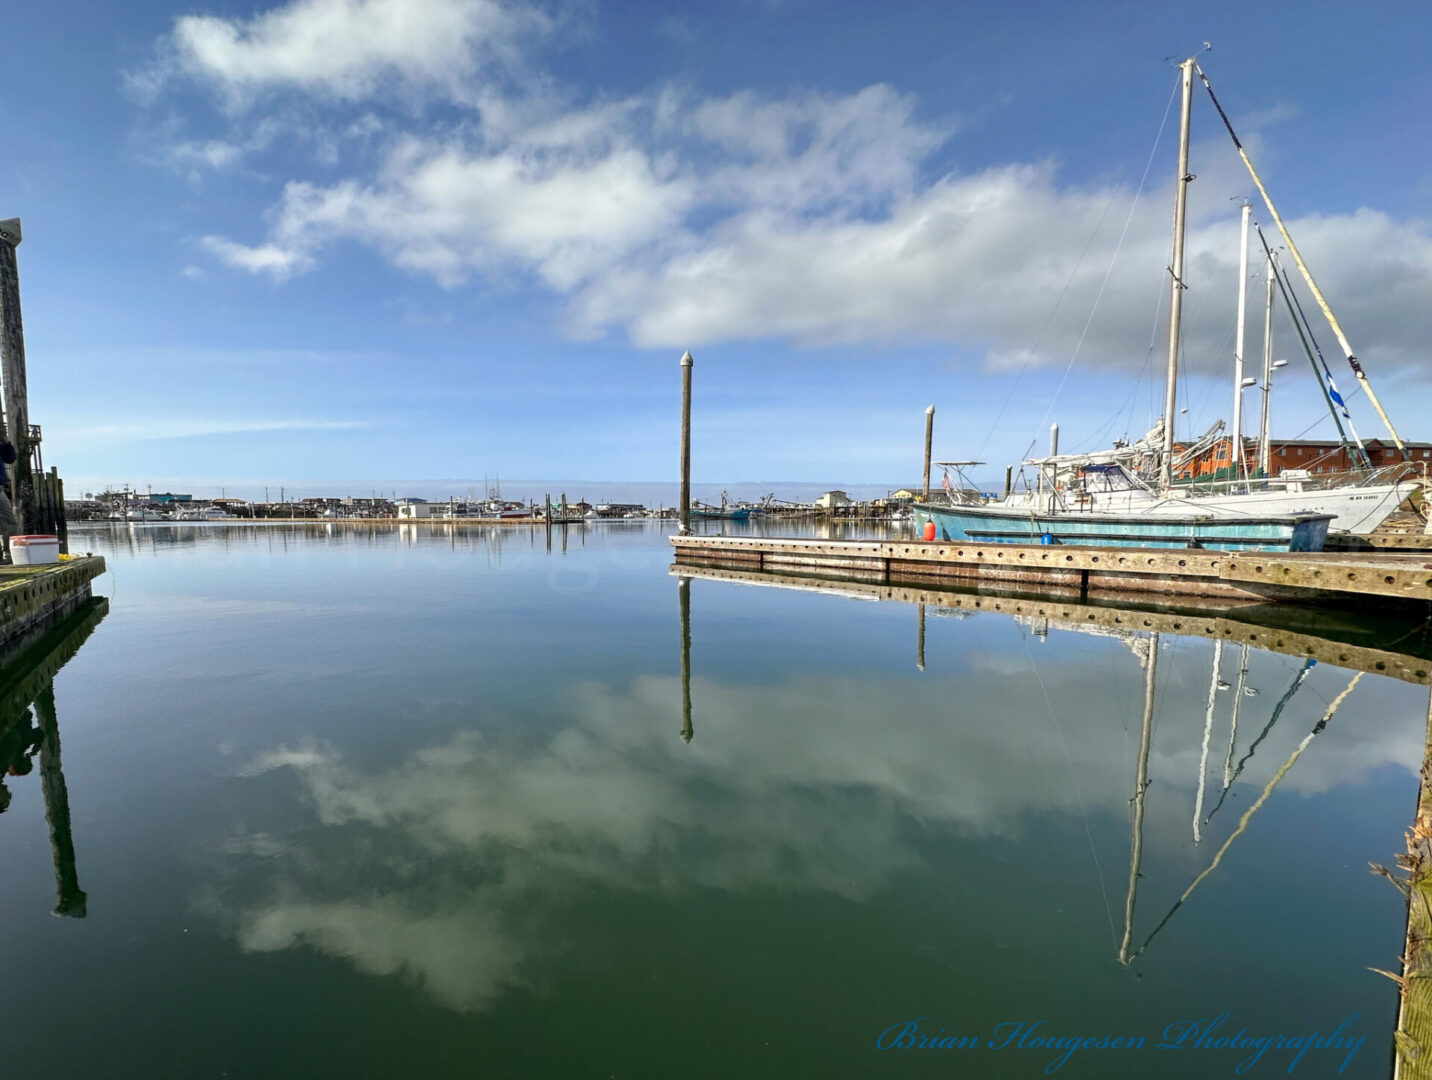
<svg viewBox="0 0 1432 1080">
<path fill-rule="evenodd" d="M 1153 514 L 1040 514 L 984 506 L 915 504 L 921 530 L 937 540 L 987 544 L 1193 547 L 1217 551 L 1322 551 L 1332 514 L 1209 517 Z"/>
</svg>

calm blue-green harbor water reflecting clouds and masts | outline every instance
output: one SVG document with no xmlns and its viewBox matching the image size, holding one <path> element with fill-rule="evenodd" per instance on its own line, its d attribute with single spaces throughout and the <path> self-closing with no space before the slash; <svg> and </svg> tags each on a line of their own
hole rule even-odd
<svg viewBox="0 0 1432 1080">
<path fill-rule="evenodd" d="M 669 529 L 76 531 L 6 1074 L 1389 1073 L 1425 688 L 697 579 L 686 728 Z"/>
</svg>

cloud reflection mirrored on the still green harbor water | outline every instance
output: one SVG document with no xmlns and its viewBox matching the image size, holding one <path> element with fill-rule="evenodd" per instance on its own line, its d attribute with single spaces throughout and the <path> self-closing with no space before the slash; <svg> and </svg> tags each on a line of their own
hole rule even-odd
<svg viewBox="0 0 1432 1080">
<path fill-rule="evenodd" d="M 975 635 L 1000 627 L 975 619 Z M 779 889 L 866 901 L 921 871 L 929 858 L 921 835 L 1002 845 L 1050 821 L 1126 821 L 1138 662 L 1121 640 L 1061 629 L 1035 647 L 1051 698 L 1030 678 L 1032 657 L 974 650 L 978 659 L 959 669 L 958 702 L 945 683 L 868 675 L 759 686 L 696 678 L 689 745 L 677 736 L 679 680 L 644 676 L 567 688 L 558 723 L 543 735 L 484 723 L 378 766 L 312 742 L 279 746 L 239 775 L 288 771 L 308 809 L 291 815 L 281 836 L 225 838 L 222 881 L 203 907 L 243 948 L 315 948 L 364 973 L 401 973 L 437 1003 L 475 1011 L 524 975 L 540 983 L 554 942 L 571 947 L 553 927 L 580 925 L 581 905 L 606 892 L 679 902 L 710 889 Z M 1146 842 L 1181 861 L 1179 887 L 1237 824 L 1224 809 L 1203 851 L 1187 848 L 1210 652 L 1206 642 L 1180 642 L 1160 655 L 1157 798 Z M 1262 723 L 1297 666 L 1254 653 L 1250 682 L 1263 695 L 1243 705 L 1244 723 Z M 1309 680 L 1234 798 L 1252 798 L 1277 772 L 1348 673 L 1319 666 Z M 1415 761 L 1419 731 L 1378 719 L 1399 715 L 1396 703 L 1412 696 L 1390 680 L 1363 680 L 1276 798 L 1365 784 Z M 1220 702 L 1220 731 L 1229 709 Z M 1260 818 L 1253 829 L 1270 842 L 1277 822 Z M 1123 826 L 1108 835 L 1117 836 L 1106 849 L 1114 862 L 1101 872 L 1114 891 L 1127 848 Z M 378 892 L 374 875 L 384 881 Z M 1093 892 L 1095 882 L 1074 888 Z M 583 938 L 581 947 L 600 944 Z"/>
</svg>

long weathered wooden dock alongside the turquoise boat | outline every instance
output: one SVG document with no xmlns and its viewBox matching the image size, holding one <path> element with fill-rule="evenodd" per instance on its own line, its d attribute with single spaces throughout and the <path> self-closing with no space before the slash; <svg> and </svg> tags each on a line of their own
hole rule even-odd
<svg viewBox="0 0 1432 1080">
<path fill-rule="evenodd" d="M 971 544 L 918 540 L 780 540 L 673 536 L 677 563 L 785 570 L 881 582 L 1055 584 L 1260 600 L 1432 602 L 1432 556 L 1200 551 Z"/>
</svg>

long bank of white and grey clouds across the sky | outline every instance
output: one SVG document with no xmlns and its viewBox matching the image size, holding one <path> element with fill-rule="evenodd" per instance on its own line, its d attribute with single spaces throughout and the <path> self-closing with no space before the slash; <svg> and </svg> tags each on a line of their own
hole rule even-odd
<svg viewBox="0 0 1432 1080">
<path fill-rule="evenodd" d="M 526 44 L 553 24 L 475 0 L 294 0 L 242 23 L 179 20 L 188 77 L 242 102 L 276 87 L 318 106 L 342 99 L 362 112 L 315 125 L 329 132 L 315 138 L 319 158 L 341 166 L 341 146 L 371 148 L 344 179 L 294 176 L 261 241 L 203 244 L 275 279 L 347 241 L 445 288 L 536 281 L 573 335 L 616 329 L 642 347 L 941 342 L 1007 370 L 1031 352 L 1037 365 L 1077 352 L 1085 367 L 1141 368 L 1157 345 L 1171 201 L 1161 166 L 1133 211 L 1130 185 L 1070 183 L 1057 162 L 951 169 L 937 155 L 954 120 L 921 117 L 882 85 L 579 102 L 524 69 Z M 487 77 L 490 66 L 524 77 Z M 384 112 L 394 85 L 460 103 L 458 119 Z M 256 145 L 239 130 L 180 155 L 228 165 Z M 1207 371 L 1232 355 L 1227 196 L 1249 179 L 1221 135 L 1194 153 L 1184 357 Z M 1432 228 L 1375 209 L 1290 225 L 1355 347 L 1379 370 L 1421 362 Z"/>
</svg>

